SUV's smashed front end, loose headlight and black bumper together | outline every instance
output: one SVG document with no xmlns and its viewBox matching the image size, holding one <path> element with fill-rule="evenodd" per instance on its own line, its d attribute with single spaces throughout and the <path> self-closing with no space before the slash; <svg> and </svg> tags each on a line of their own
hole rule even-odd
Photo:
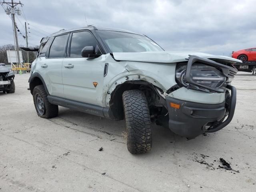
<svg viewBox="0 0 256 192">
<path fill-rule="evenodd" d="M 176 67 L 177 85 L 166 92 L 169 120 L 168 127 L 174 133 L 186 138 L 195 138 L 204 132 L 216 132 L 228 125 L 233 116 L 236 106 L 236 88 L 230 85 L 236 68 L 215 62 L 198 56 L 189 56 L 187 63 L 180 63 Z M 220 97 L 222 102 L 201 103 L 191 100 L 178 99 L 172 96 L 176 90 L 186 88 L 193 90 L 191 97 L 200 97 L 207 101 L 207 97 Z M 230 92 L 228 90 L 231 91 Z M 202 94 L 204 92 L 205 94 Z M 186 93 L 186 91 L 184 92 Z M 208 97 L 208 98 L 210 98 Z M 227 117 L 227 118 L 226 118 Z"/>
</svg>

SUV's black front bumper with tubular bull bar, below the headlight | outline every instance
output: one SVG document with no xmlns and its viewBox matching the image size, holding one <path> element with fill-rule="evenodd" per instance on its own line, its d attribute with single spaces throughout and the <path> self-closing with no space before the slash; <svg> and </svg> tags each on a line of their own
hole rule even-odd
<svg viewBox="0 0 256 192">
<path fill-rule="evenodd" d="M 228 85 L 231 90 L 231 102 L 228 118 L 222 122 L 226 114 L 226 102 L 220 104 L 200 104 L 187 102 L 166 96 L 169 112 L 169 128 L 177 135 L 195 138 L 204 132 L 216 132 L 230 123 L 236 107 L 236 88 Z M 180 108 L 172 108 L 170 102 L 179 104 Z"/>
</svg>

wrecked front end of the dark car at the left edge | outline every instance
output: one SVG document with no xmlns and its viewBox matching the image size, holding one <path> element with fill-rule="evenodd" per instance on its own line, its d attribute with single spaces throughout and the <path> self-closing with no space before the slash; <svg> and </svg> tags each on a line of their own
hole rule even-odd
<svg viewBox="0 0 256 192">
<path fill-rule="evenodd" d="M 0 65 L 0 91 L 5 93 L 10 91 L 14 76 L 15 75 L 12 70 Z"/>
</svg>

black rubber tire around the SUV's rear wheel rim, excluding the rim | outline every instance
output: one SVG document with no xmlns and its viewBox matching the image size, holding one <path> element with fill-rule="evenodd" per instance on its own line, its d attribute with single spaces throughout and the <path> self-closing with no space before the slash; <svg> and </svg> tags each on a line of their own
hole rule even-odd
<svg viewBox="0 0 256 192">
<path fill-rule="evenodd" d="M 40 114 L 40 112 L 38 111 L 38 108 L 36 107 L 36 95 L 37 94 L 39 94 L 41 96 L 41 98 L 44 102 L 43 103 L 44 104 L 44 112 L 42 114 Z M 34 105 L 35 105 L 36 112 L 37 112 L 38 116 L 40 116 L 42 118 L 46 118 L 46 119 L 58 116 L 58 112 L 59 112 L 58 105 L 49 103 L 46 91 L 44 89 L 44 85 L 38 85 L 38 86 L 34 87 L 33 100 L 34 100 Z"/>
</svg>

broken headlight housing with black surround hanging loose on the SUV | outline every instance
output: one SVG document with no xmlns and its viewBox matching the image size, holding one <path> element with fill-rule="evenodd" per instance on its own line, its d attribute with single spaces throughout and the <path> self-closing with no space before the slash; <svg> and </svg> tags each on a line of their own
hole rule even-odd
<svg viewBox="0 0 256 192">
<path fill-rule="evenodd" d="M 190 56 L 188 64 L 176 68 L 176 81 L 180 86 L 205 92 L 225 92 L 238 71 L 215 61 Z"/>
</svg>

